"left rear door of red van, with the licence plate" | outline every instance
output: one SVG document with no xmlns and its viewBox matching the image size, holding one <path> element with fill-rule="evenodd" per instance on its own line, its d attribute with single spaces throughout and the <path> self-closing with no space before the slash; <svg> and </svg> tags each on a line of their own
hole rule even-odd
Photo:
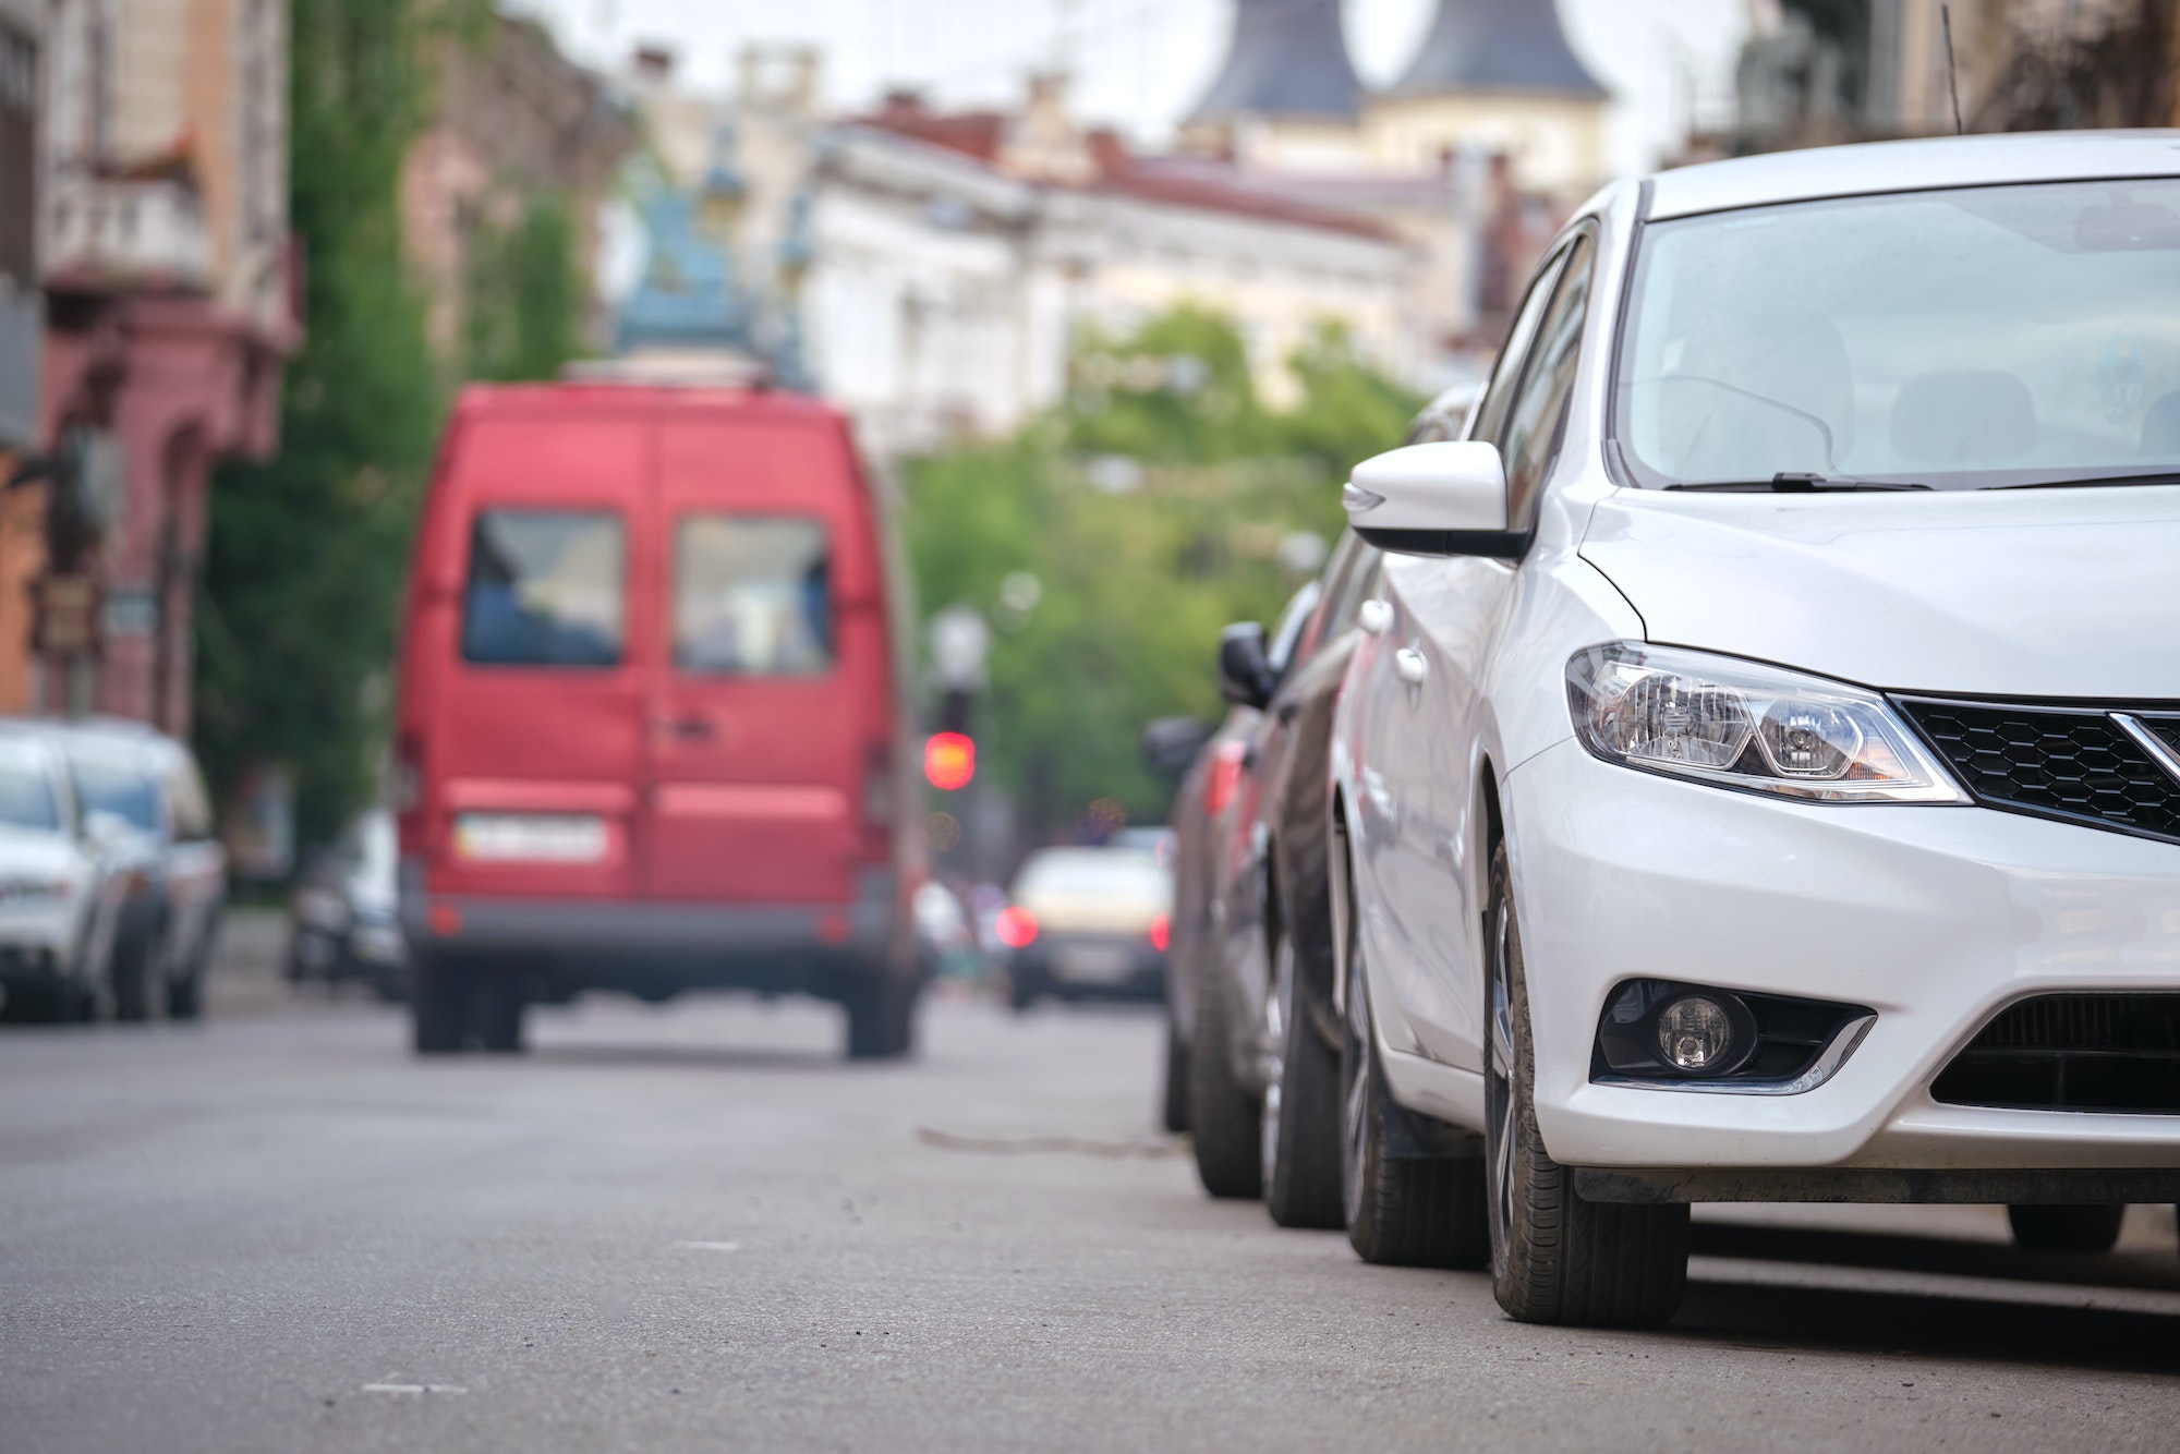
<svg viewBox="0 0 2180 1454">
<path fill-rule="evenodd" d="M 427 770 L 434 889 L 626 898 L 639 892 L 645 772 L 645 421 L 475 419 L 447 469 L 425 569 L 438 641 Z"/>
</svg>

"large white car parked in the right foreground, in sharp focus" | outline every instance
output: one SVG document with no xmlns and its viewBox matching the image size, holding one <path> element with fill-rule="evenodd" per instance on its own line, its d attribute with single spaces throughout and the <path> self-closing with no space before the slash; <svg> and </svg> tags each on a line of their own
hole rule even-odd
<svg viewBox="0 0 2180 1454">
<path fill-rule="evenodd" d="M 1639 1325 L 1692 1201 L 2180 1199 L 2171 133 L 1618 183 L 1345 499 L 1365 1256 Z"/>
</svg>

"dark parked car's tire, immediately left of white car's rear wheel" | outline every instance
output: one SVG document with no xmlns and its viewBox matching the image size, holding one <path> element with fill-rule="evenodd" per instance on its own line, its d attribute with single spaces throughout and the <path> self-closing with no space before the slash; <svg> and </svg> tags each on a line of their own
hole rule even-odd
<svg viewBox="0 0 2180 1454">
<path fill-rule="evenodd" d="M 1291 933 L 1271 948 L 1264 1029 L 1277 1055 L 1258 1112 L 1264 1210 L 1282 1227 L 1343 1227 L 1341 1062 L 1317 1033 Z"/>
</svg>

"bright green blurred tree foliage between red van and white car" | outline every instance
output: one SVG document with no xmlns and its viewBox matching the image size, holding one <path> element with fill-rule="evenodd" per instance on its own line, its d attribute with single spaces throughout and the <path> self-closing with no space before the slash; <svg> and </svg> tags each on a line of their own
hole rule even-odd
<svg viewBox="0 0 2180 1454">
<path fill-rule="evenodd" d="M 1291 368 L 1299 403 L 1262 410 L 1240 331 L 1177 310 L 1090 338 L 1055 416 L 909 467 L 918 599 L 998 628 L 979 761 L 1033 837 L 1066 835 L 1094 800 L 1164 817 L 1144 722 L 1221 711 L 1219 628 L 1280 610 L 1299 584 L 1280 543 L 1330 541 L 1347 467 L 1397 445 L 1419 408 L 1336 329 Z M 1007 599 L 1016 573 L 1042 589 L 1027 610 Z"/>
</svg>

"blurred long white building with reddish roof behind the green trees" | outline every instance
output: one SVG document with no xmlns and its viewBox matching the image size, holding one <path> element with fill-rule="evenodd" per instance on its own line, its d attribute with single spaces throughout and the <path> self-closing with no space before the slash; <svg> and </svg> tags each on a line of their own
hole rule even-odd
<svg viewBox="0 0 2180 1454">
<path fill-rule="evenodd" d="M 1016 429 L 1059 401 L 1086 334 L 1179 305 L 1236 320 L 1275 408 L 1325 323 L 1395 377 L 1428 366 L 1424 259 L 1358 216 L 1195 172 L 1031 181 L 874 124 L 828 131 L 809 187 L 809 362 L 881 453 Z"/>
</svg>

